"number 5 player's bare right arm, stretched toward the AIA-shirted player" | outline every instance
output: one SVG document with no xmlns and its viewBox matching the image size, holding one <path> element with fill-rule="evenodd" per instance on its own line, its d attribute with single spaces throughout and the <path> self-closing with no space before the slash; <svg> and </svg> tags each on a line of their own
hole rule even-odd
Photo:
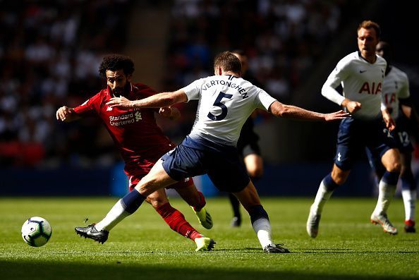
<svg viewBox="0 0 419 280">
<path fill-rule="evenodd" d="M 275 101 L 269 106 L 269 112 L 274 116 L 282 118 L 293 118 L 303 121 L 336 121 L 350 116 L 345 111 L 336 111 L 334 113 L 322 114 L 315 111 L 308 111 L 298 106 L 282 104 Z"/>
</svg>

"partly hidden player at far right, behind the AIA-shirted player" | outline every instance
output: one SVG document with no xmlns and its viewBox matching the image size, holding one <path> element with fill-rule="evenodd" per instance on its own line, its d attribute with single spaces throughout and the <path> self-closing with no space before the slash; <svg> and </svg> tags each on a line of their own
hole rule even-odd
<svg viewBox="0 0 419 280">
<path fill-rule="evenodd" d="M 387 68 L 382 85 L 384 104 L 396 121 L 396 128 L 390 133 L 396 142 L 401 156 L 401 195 L 405 209 L 404 231 L 414 233 L 415 230 L 415 204 L 416 204 L 416 183 L 412 172 L 411 135 L 418 140 L 418 114 L 411 100 L 409 91 L 409 80 L 406 73 L 391 65 L 393 53 L 387 42 L 380 41 L 377 44 L 376 52 L 387 61 Z M 370 165 L 375 170 L 378 181 L 385 173 L 384 166 L 379 159 L 373 158 L 368 153 Z"/>
</svg>

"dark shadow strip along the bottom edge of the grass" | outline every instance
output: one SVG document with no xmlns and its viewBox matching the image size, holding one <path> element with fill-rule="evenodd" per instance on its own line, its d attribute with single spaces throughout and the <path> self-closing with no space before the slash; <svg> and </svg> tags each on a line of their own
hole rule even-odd
<svg viewBox="0 0 419 280">
<path fill-rule="evenodd" d="M 175 257 L 175 256 L 174 256 Z M 79 264 L 63 262 L 1 261 L 1 279 L 181 279 L 181 280 L 236 280 L 236 279 L 383 279 L 382 276 L 362 276 L 347 274 L 312 274 L 304 271 L 264 272 L 263 269 L 225 269 L 211 266 L 206 268 L 169 267 L 164 264 L 153 265 L 124 264 L 114 261 L 109 264 Z M 168 264 L 170 265 L 170 264 Z M 390 279 L 390 277 L 389 277 Z M 398 279 L 408 279 L 400 277 Z"/>
</svg>

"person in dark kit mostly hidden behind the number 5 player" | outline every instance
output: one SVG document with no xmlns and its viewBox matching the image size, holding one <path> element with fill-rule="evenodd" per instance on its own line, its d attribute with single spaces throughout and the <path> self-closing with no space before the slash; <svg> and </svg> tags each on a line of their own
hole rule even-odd
<svg viewBox="0 0 419 280">
<path fill-rule="evenodd" d="M 248 56 L 241 49 L 236 49 L 232 53 L 237 56 L 241 62 L 241 78 L 249 81 L 256 87 L 262 88 L 262 85 L 248 72 L 249 63 Z M 237 150 L 240 157 L 243 159 L 246 170 L 250 176 L 250 179 L 255 183 L 263 175 L 263 160 L 260 156 L 259 147 L 259 135 L 255 133 L 253 118 L 256 117 L 257 111 L 248 117 L 241 128 L 240 137 L 237 142 Z M 231 226 L 241 226 L 241 212 L 240 202 L 235 195 L 229 193 L 229 200 L 231 207 L 233 208 L 233 219 L 231 220 Z"/>
</svg>

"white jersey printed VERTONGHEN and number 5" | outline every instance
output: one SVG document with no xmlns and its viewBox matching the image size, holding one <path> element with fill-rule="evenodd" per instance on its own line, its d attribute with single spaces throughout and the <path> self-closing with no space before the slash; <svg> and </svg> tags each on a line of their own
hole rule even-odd
<svg viewBox="0 0 419 280">
<path fill-rule="evenodd" d="M 265 90 L 233 75 L 195 80 L 182 90 L 188 100 L 199 99 L 190 138 L 205 138 L 221 145 L 236 146 L 248 116 L 256 108 L 267 111 L 276 100 Z"/>
</svg>

